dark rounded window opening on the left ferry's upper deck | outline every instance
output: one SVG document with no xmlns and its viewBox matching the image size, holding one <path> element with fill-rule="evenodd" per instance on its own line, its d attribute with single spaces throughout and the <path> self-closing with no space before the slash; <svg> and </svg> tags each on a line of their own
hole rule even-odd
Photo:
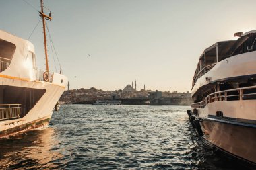
<svg viewBox="0 0 256 170">
<path fill-rule="evenodd" d="M 0 39 L 0 71 L 4 71 L 9 67 L 15 49 L 15 44 Z"/>
</svg>

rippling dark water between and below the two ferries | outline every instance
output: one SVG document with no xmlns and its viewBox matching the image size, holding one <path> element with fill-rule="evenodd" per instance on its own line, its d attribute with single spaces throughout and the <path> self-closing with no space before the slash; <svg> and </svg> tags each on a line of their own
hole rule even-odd
<svg viewBox="0 0 256 170">
<path fill-rule="evenodd" d="M 241 169 L 196 136 L 186 106 L 62 105 L 0 139 L 1 169 Z"/>
</svg>

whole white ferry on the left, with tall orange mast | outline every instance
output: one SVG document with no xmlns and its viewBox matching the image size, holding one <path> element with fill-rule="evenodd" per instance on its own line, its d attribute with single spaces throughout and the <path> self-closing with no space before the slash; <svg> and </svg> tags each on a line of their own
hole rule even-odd
<svg viewBox="0 0 256 170">
<path fill-rule="evenodd" d="M 0 137 L 49 124 L 53 110 L 67 86 L 67 77 L 49 71 L 45 20 L 46 69 L 36 67 L 34 45 L 0 30 Z"/>
</svg>

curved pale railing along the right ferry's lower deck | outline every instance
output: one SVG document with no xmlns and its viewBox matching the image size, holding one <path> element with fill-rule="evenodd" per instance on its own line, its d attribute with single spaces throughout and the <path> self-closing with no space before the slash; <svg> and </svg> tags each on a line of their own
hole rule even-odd
<svg viewBox="0 0 256 170">
<path fill-rule="evenodd" d="M 192 108 L 204 108 L 205 105 L 215 101 L 238 101 L 256 99 L 256 85 L 217 91 L 207 95 L 203 101 L 193 103 Z"/>
</svg>

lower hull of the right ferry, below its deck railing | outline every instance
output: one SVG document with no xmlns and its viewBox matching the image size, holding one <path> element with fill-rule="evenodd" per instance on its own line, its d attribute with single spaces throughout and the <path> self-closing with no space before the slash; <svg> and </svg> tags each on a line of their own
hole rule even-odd
<svg viewBox="0 0 256 170">
<path fill-rule="evenodd" d="M 203 138 L 221 150 L 256 165 L 256 100 L 214 101 L 192 108 Z M 222 112 L 218 116 L 218 112 Z"/>
</svg>

